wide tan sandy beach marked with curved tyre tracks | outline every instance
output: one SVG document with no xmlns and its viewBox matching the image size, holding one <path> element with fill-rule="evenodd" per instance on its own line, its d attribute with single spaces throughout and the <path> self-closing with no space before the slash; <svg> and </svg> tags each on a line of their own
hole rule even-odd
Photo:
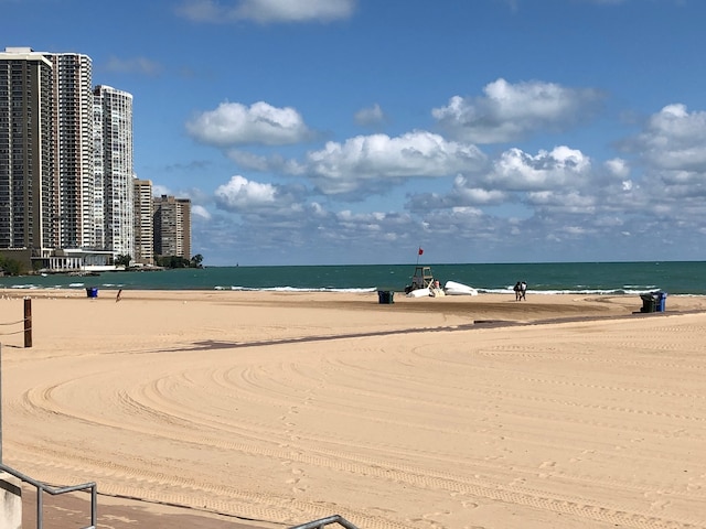
<svg viewBox="0 0 706 529">
<path fill-rule="evenodd" d="M 706 528 L 706 298 L 641 306 L 0 291 L 2 460 L 103 529 Z"/>
</svg>

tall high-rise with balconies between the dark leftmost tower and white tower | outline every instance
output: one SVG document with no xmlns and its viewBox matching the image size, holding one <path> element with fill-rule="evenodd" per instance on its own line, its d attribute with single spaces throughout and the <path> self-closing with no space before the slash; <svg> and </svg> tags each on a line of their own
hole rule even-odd
<svg viewBox="0 0 706 529">
<path fill-rule="evenodd" d="M 58 247 L 100 249 L 94 227 L 93 63 L 78 53 L 44 55 L 53 66 Z"/>
</svg>

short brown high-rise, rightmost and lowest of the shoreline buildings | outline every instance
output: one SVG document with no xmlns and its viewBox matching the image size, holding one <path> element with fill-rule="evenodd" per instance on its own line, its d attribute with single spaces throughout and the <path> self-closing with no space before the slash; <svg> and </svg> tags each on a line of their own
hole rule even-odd
<svg viewBox="0 0 706 529">
<path fill-rule="evenodd" d="M 191 201 L 154 198 L 154 253 L 191 259 Z"/>
</svg>

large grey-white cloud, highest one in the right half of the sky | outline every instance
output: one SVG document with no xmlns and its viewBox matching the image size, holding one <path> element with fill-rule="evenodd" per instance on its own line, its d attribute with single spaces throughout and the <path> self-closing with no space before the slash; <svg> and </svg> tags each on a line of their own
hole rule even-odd
<svg viewBox="0 0 706 529">
<path fill-rule="evenodd" d="M 483 97 L 454 96 L 431 115 L 457 139 L 475 143 L 501 143 L 537 129 L 563 130 L 586 117 L 601 99 L 597 90 L 567 88 L 554 83 L 510 84 L 498 79 L 486 85 Z"/>
</svg>

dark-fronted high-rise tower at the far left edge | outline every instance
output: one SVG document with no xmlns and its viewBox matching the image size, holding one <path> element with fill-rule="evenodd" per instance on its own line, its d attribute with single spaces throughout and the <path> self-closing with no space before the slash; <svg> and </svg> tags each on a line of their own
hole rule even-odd
<svg viewBox="0 0 706 529">
<path fill-rule="evenodd" d="M 53 67 L 28 47 L 0 53 L 0 249 L 56 246 Z"/>
</svg>

